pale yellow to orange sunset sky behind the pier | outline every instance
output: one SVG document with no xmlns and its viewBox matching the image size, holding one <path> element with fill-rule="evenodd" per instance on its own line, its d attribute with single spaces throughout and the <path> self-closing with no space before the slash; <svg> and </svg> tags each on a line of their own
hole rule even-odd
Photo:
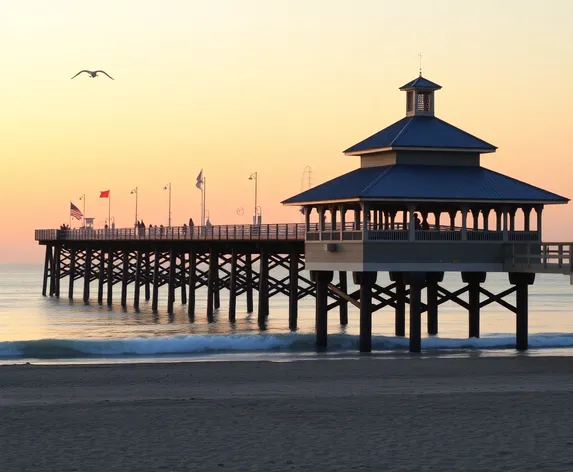
<svg viewBox="0 0 573 472">
<path fill-rule="evenodd" d="M 569 0 L 2 0 L 0 263 L 41 262 L 34 229 L 138 217 L 298 222 L 280 202 L 359 166 L 343 150 L 399 120 L 398 88 L 496 146 L 482 165 L 573 197 Z M 104 69 L 91 79 L 81 69 Z M 243 209 L 241 215 L 240 209 Z M 544 213 L 573 241 L 573 204 Z M 75 223 L 77 225 L 77 223 Z"/>
</svg>

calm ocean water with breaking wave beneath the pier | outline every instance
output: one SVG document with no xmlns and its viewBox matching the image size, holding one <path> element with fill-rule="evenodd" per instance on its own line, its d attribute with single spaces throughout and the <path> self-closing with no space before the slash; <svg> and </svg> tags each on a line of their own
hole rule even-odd
<svg viewBox="0 0 573 472">
<path fill-rule="evenodd" d="M 337 309 L 329 312 L 328 350 L 316 352 L 314 299 L 310 297 L 299 302 L 296 333 L 289 332 L 288 299 L 280 295 L 271 298 L 268 324 L 261 331 L 256 312 L 246 313 L 244 297 L 237 300 L 236 321 L 228 320 L 225 291 L 221 292 L 221 309 L 209 323 L 205 310 L 207 293 L 198 290 L 195 321 L 191 323 L 187 307 L 178 302 L 175 312 L 167 314 L 166 287 L 160 290 L 158 313 L 151 310 L 151 301 L 142 301 L 138 311 L 131 304 L 122 308 L 119 286 L 114 287 L 111 307 L 98 305 L 93 299 L 84 304 L 81 283 L 76 283 L 76 299 L 68 300 L 67 279 L 62 281 L 65 296 L 43 297 L 42 269 L 40 265 L 0 265 L 0 364 L 359 357 L 358 310 L 353 306 L 349 306 L 347 326 L 339 324 Z M 380 284 L 389 283 L 387 274 L 379 274 L 378 280 Z M 447 273 L 443 285 L 449 290 L 462 287 L 460 274 Z M 509 286 L 507 274 L 495 273 L 488 274 L 484 284 L 494 293 Z M 128 297 L 133 299 L 132 291 Z M 511 296 L 507 300 L 515 302 Z M 467 338 L 467 318 L 467 312 L 454 303 L 440 305 L 439 335 L 423 336 L 422 355 L 523 355 L 514 349 L 513 313 L 497 304 L 483 308 L 479 339 Z M 422 333 L 425 328 L 424 324 Z M 372 329 L 372 356 L 410 356 L 408 339 L 393 334 L 392 308 L 373 315 Z M 568 277 L 537 275 L 535 285 L 530 287 L 529 345 L 525 355 L 573 355 L 573 286 Z"/>
</svg>

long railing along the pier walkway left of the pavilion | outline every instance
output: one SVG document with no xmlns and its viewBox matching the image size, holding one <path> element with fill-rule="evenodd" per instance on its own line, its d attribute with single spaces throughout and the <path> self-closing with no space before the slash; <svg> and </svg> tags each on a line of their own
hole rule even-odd
<svg viewBox="0 0 573 472">
<path fill-rule="evenodd" d="M 72 229 L 36 230 L 37 241 L 66 240 L 304 240 L 305 227 L 302 223 L 270 225 L 221 225 L 184 226 L 163 228 L 114 228 L 114 229 Z"/>
</svg>

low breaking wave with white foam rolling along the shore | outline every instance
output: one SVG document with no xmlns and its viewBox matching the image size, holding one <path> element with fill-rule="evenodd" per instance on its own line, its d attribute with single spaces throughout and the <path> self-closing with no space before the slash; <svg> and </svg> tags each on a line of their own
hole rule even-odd
<svg viewBox="0 0 573 472">
<path fill-rule="evenodd" d="M 332 334 L 328 350 L 357 351 L 359 337 Z M 573 347 L 573 334 L 544 333 L 529 337 L 535 349 Z M 422 340 L 422 349 L 434 350 L 490 350 L 514 349 L 515 336 L 490 335 L 480 339 L 431 337 Z M 403 351 L 408 349 L 407 338 L 373 336 L 374 351 Z M 137 357 L 232 352 L 315 351 L 314 334 L 227 334 L 193 335 L 119 339 L 39 339 L 0 342 L 0 359 L 70 359 L 86 357 Z"/>
</svg>

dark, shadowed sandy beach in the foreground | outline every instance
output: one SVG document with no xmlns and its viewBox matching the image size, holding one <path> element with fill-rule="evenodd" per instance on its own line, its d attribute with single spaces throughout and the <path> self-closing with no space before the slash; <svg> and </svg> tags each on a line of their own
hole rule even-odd
<svg viewBox="0 0 573 472">
<path fill-rule="evenodd" d="M 0 368 L 4 471 L 569 471 L 573 359 Z"/>
</svg>

